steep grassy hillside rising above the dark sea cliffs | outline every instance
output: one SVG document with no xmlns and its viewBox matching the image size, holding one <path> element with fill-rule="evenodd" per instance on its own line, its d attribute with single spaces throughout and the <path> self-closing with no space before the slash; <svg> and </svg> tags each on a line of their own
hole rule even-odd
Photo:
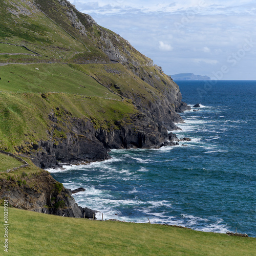
<svg viewBox="0 0 256 256">
<path fill-rule="evenodd" d="M 69 132 L 71 118 L 90 119 L 95 129 L 118 129 L 117 121 L 131 123 L 143 115 L 135 99 L 145 114 L 163 100 L 163 74 L 154 67 L 146 71 L 153 74 L 150 85 L 133 72 L 134 65 L 146 68 L 151 60 L 69 3 L 0 4 L 0 149 L 30 152 L 32 143 L 48 140 L 52 132 Z M 111 64 L 105 52 L 126 64 Z M 49 115 L 58 119 L 61 134 L 52 131 Z"/>
</svg>

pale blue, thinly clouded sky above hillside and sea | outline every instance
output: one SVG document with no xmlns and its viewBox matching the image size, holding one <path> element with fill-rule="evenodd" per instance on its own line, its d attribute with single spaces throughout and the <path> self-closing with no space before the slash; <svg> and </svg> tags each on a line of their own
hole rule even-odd
<svg viewBox="0 0 256 256">
<path fill-rule="evenodd" d="M 255 0 L 70 0 L 167 75 L 256 80 Z"/>
</svg>

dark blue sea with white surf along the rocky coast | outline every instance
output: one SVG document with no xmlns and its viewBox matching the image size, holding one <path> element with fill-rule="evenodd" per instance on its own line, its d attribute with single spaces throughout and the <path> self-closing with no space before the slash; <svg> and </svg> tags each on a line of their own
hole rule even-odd
<svg viewBox="0 0 256 256">
<path fill-rule="evenodd" d="M 77 203 L 104 218 L 168 223 L 256 237 L 256 81 L 179 81 L 178 137 L 187 146 L 115 150 L 113 159 L 51 170 L 67 188 L 85 187 Z M 181 144 L 181 143 L 180 143 Z"/>
</svg>

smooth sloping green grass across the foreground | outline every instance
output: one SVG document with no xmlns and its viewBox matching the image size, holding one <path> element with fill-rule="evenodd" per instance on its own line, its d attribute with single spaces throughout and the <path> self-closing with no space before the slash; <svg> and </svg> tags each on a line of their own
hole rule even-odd
<svg viewBox="0 0 256 256">
<path fill-rule="evenodd" d="M 8 214 L 11 255 L 255 255 L 254 238 L 62 218 L 15 208 L 9 208 Z"/>
</svg>

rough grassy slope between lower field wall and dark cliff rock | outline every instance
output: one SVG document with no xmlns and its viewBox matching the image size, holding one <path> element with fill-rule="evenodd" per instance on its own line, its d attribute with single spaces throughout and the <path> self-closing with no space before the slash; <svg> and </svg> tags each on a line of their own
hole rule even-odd
<svg viewBox="0 0 256 256">
<path fill-rule="evenodd" d="M 115 95 L 114 95 L 115 96 Z M 63 137 L 70 130 L 70 120 L 90 119 L 95 128 L 115 127 L 116 121 L 129 122 L 138 111 L 128 101 L 66 93 L 0 93 L 0 148 L 5 151 L 33 150 L 38 140 Z M 61 132 L 54 130 L 52 115 Z M 55 124 L 56 125 L 56 124 Z M 118 127 L 117 127 L 118 129 Z"/>
</svg>

